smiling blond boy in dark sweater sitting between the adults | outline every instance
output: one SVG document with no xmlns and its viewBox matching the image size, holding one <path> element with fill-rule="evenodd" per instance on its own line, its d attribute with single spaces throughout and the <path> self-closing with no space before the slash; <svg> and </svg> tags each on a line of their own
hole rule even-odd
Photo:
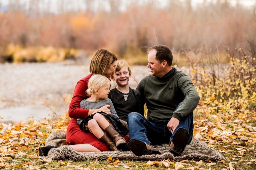
<svg viewBox="0 0 256 170">
<path fill-rule="evenodd" d="M 127 125 L 127 117 L 131 112 L 138 112 L 144 116 L 144 106 L 141 102 L 141 94 L 139 90 L 129 87 L 129 79 L 131 77 L 131 68 L 127 62 L 117 60 L 115 71 L 111 78 L 117 84 L 117 87 L 112 89 L 108 95 L 111 99 L 114 108 L 124 125 Z"/>
</svg>

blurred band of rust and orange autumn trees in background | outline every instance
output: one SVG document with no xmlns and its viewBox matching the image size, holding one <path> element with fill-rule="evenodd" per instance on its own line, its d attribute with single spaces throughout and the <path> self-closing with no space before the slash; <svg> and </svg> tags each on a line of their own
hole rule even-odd
<svg viewBox="0 0 256 170">
<path fill-rule="evenodd" d="M 0 12 L 0 57 L 7 55 L 9 44 L 22 48 L 107 48 L 118 57 L 145 53 L 146 46 L 152 44 L 165 44 L 177 51 L 202 45 L 213 50 L 219 45 L 245 50 L 256 46 L 255 9 L 231 6 L 228 0 L 205 1 L 196 8 L 190 1 L 170 0 L 161 7 L 160 1 L 131 0 L 125 10 L 118 10 L 121 1 L 111 0 L 104 1 L 110 10 L 95 8 L 101 1 L 85 1 L 81 6 L 86 9 L 64 10 L 70 4 L 61 1 L 56 13 L 40 10 L 39 1 L 28 2 L 26 9 L 16 4 L 22 2 L 10 1 L 6 11 Z"/>
</svg>

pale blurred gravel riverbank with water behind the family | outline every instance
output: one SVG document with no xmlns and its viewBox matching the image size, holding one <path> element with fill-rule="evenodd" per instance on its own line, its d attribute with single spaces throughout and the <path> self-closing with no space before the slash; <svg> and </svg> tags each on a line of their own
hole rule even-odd
<svg viewBox="0 0 256 170">
<path fill-rule="evenodd" d="M 85 64 L 74 61 L 58 63 L 5 63 L 0 64 L 0 115 L 2 121 L 24 121 L 48 117 L 55 109 L 65 114 L 64 98 L 71 98 L 77 81 L 89 74 Z M 146 66 L 132 66 L 133 76 L 140 80 L 149 74 Z M 130 78 L 130 86 L 137 82 Z M 112 83 L 114 86 L 114 83 Z M 48 105 L 48 106 L 45 106 Z"/>
</svg>

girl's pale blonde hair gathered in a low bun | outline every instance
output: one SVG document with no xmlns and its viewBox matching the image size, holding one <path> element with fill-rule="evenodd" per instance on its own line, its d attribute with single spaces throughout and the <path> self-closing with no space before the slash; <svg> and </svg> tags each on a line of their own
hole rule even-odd
<svg viewBox="0 0 256 170">
<path fill-rule="evenodd" d="M 101 74 L 95 74 L 93 75 L 88 82 L 88 89 L 86 90 L 86 93 L 91 96 L 95 89 L 100 89 L 101 87 L 107 85 L 110 87 L 111 81 L 101 75 Z"/>
</svg>

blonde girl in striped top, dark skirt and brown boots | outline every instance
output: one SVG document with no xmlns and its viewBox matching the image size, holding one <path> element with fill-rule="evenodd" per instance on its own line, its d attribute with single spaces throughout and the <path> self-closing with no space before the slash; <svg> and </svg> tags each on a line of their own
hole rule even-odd
<svg viewBox="0 0 256 170">
<path fill-rule="evenodd" d="M 99 74 L 90 78 L 86 90 L 90 97 L 80 102 L 80 108 L 98 110 L 86 119 L 77 119 L 77 123 L 80 129 L 93 133 L 100 141 L 106 143 L 111 150 L 119 151 L 127 145 L 125 139 L 119 133 L 125 135 L 127 130 L 120 123 L 113 103 L 108 98 L 110 83 L 107 77 Z M 110 105 L 110 113 L 101 112 L 100 108 L 105 105 Z"/>
</svg>

